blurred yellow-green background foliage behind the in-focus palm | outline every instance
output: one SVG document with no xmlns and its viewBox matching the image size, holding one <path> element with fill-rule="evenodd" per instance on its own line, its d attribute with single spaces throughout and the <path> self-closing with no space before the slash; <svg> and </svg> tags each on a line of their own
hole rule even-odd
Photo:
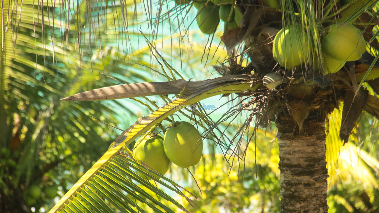
<svg viewBox="0 0 379 213">
<path fill-rule="evenodd" d="M 187 80 L 218 77 L 211 65 L 227 56 L 217 40 L 222 30 L 210 38 L 188 27 L 191 19 L 183 23 L 183 17 L 193 20 L 196 14 L 173 2 L 162 6 L 171 15 L 160 25 L 154 25 L 158 21 L 154 17 L 161 11 L 148 10 L 156 8 L 150 2 L 60 3 L 3 2 L 0 212 L 48 211 L 121 133 L 97 119 L 125 129 L 149 112 L 131 99 L 70 103 L 59 99 L 120 82 L 167 80 L 159 74 L 163 61 L 153 57 L 156 53 Z M 158 99 L 150 100 L 159 105 Z M 342 146 L 340 116 L 338 110 L 329 116 L 329 212 L 377 212 L 379 123 L 363 115 L 349 143 Z M 213 117 L 217 119 L 217 113 Z M 235 130 L 229 126 L 226 134 L 232 136 Z M 191 212 L 279 212 L 275 135 L 274 126 L 258 130 L 255 143 L 243 147 L 246 159 L 224 156 L 213 141 L 205 140 L 207 149 L 198 165 L 189 170 L 173 165 L 169 177 L 199 197 L 196 204 L 201 210 L 182 200 L 185 207 Z M 42 191 L 33 197 L 35 186 Z M 49 187 L 57 193 L 49 196 Z"/>
</svg>

